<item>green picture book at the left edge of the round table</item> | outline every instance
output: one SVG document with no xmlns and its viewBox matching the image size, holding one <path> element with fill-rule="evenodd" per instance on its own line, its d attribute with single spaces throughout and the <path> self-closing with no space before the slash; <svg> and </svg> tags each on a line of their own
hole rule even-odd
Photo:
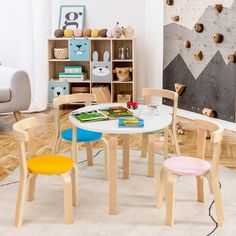
<svg viewBox="0 0 236 236">
<path fill-rule="evenodd" d="M 74 112 L 72 113 L 72 115 L 80 122 L 94 122 L 94 121 L 108 120 L 108 117 L 106 115 L 97 110 L 90 112 L 81 112 L 81 113 Z"/>
</svg>

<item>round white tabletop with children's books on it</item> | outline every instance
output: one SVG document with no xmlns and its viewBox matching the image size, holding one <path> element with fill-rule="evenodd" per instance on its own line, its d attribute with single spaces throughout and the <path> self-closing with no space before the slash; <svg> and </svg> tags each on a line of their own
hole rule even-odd
<svg viewBox="0 0 236 236">
<path fill-rule="evenodd" d="M 102 108 L 112 107 L 112 106 L 124 106 L 124 103 L 108 103 L 91 105 L 83 108 L 79 108 L 74 112 L 88 112 L 93 110 L 98 110 Z M 157 130 L 165 129 L 172 121 L 171 114 L 161 111 L 161 109 L 156 109 L 155 111 L 145 105 L 139 105 L 138 109 L 133 110 L 134 114 L 144 120 L 144 127 L 131 127 L 131 128 L 120 128 L 118 127 L 117 120 L 106 120 L 99 122 L 80 122 L 72 113 L 69 116 L 70 122 L 73 126 L 85 130 L 90 130 L 94 132 L 101 132 L 107 134 L 137 134 L 137 133 L 148 133 Z"/>
</svg>

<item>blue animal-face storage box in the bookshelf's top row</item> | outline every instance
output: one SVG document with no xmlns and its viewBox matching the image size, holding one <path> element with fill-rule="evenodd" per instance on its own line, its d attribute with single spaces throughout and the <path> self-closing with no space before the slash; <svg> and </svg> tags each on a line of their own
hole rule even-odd
<svg viewBox="0 0 236 236">
<path fill-rule="evenodd" d="M 89 61 L 90 60 L 90 43 L 87 38 L 70 39 L 70 60 L 71 61 Z"/>
</svg>

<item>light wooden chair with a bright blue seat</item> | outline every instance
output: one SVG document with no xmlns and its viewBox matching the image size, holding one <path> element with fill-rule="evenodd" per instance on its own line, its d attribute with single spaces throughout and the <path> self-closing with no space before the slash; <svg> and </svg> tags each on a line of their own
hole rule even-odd
<svg viewBox="0 0 236 236">
<path fill-rule="evenodd" d="M 55 154 L 59 148 L 61 139 L 72 142 L 73 130 L 72 128 L 61 131 L 60 128 L 60 106 L 65 104 L 79 103 L 84 102 L 85 106 L 91 105 L 92 102 L 96 101 L 96 96 L 94 94 L 70 94 L 59 96 L 53 99 L 54 107 L 54 117 L 55 117 L 55 142 L 53 146 L 53 154 Z M 108 165 L 107 165 L 107 151 L 108 151 L 108 142 L 105 138 L 102 137 L 102 133 L 92 132 L 83 129 L 77 129 L 77 142 L 85 142 L 87 149 L 87 162 L 88 166 L 93 166 L 93 150 L 92 150 L 92 141 L 101 140 L 104 144 L 104 153 L 105 153 L 105 178 L 107 179 L 108 175 Z"/>
</svg>

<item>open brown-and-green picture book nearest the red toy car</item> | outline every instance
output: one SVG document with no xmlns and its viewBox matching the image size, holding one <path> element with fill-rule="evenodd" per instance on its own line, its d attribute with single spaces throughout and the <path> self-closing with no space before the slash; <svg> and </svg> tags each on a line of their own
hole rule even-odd
<svg viewBox="0 0 236 236">
<path fill-rule="evenodd" d="M 123 106 L 114 106 L 99 109 L 104 115 L 109 119 L 118 119 L 120 117 L 134 117 L 134 113 L 126 107 Z"/>
</svg>

